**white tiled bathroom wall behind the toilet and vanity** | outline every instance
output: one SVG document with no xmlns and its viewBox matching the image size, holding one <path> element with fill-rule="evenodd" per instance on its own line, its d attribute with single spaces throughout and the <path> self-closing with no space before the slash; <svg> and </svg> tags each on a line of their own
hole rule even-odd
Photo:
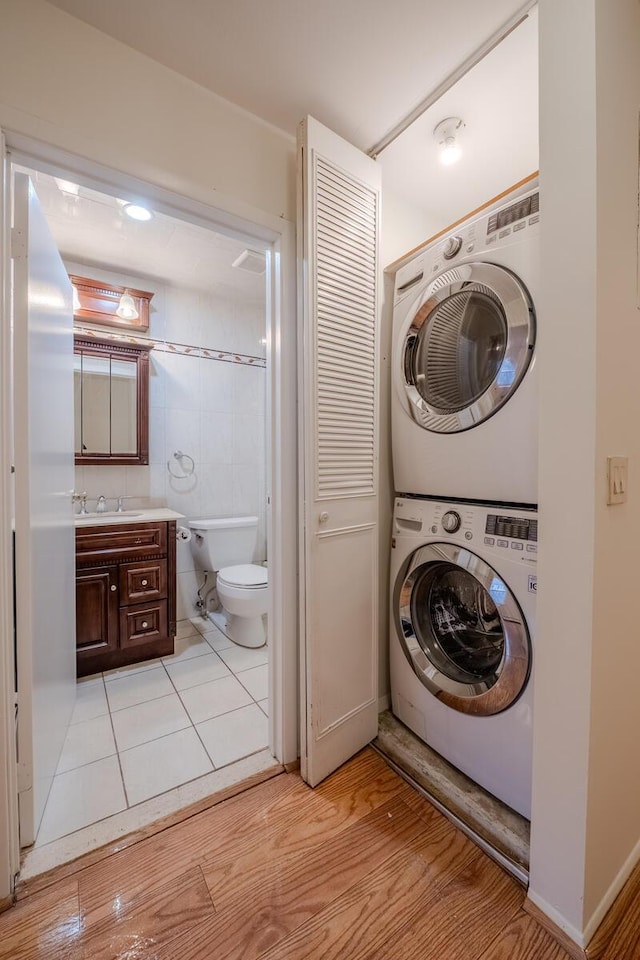
<svg viewBox="0 0 640 960">
<path fill-rule="evenodd" d="M 78 273 L 110 283 L 153 290 L 153 339 L 197 348 L 265 355 L 263 303 L 187 290 L 149 277 L 66 263 Z M 203 266 L 204 268 L 204 266 Z M 78 467 L 76 489 L 92 502 L 99 494 L 153 498 L 187 517 L 256 514 L 259 542 L 254 560 L 266 557 L 265 429 L 266 370 L 206 357 L 159 350 L 151 355 L 148 467 Z M 173 452 L 194 457 L 195 475 L 173 479 L 167 472 Z M 178 615 L 196 612 L 201 577 L 191 551 L 178 545 Z"/>
</svg>

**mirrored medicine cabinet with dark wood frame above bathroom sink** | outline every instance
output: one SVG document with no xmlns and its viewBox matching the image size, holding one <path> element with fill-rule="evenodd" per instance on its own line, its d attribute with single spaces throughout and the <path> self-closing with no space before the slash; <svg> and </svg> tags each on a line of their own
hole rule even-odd
<svg viewBox="0 0 640 960">
<path fill-rule="evenodd" d="M 151 347 L 74 343 L 76 463 L 148 463 Z"/>
</svg>

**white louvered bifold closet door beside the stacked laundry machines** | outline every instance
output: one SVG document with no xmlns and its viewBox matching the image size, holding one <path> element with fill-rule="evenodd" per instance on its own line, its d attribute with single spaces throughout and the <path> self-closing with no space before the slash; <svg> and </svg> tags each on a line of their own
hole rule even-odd
<svg viewBox="0 0 640 960">
<path fill-rule="evenodd" d="M 376 736 L 380 172 L 312 118 L 299 131 L 302 774 Z"/>
</svg>

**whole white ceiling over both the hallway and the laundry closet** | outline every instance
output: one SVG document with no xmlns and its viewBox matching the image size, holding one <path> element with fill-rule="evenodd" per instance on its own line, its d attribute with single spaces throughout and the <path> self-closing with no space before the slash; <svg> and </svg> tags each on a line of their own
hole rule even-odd
<svg viewBox="0 0 640 960">
<path fill-rule="evenodd" d="M 363 150 L 423 102 L 523 0 L 50 0 L 295 134 L 311 114 Z M 538 165 L 537 16 L 380 155 L 385 190 L 434 229 Z M 466 123 L 464 157 L 437 162 L 433 128 Z"/>
</svg>

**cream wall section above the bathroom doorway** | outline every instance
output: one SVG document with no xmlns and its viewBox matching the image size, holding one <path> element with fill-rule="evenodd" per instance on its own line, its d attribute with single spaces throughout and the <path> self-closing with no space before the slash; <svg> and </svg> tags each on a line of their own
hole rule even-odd
<svg viewBox="0 0 640 960">
<path fill-rule="evenodd" d="M 3 0 L 0 17 L 5 130 L 294 220 L 295 143 L 281 131 L 43 0 Z"/>
</svg>

